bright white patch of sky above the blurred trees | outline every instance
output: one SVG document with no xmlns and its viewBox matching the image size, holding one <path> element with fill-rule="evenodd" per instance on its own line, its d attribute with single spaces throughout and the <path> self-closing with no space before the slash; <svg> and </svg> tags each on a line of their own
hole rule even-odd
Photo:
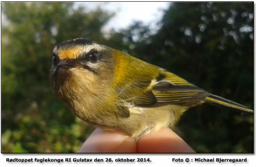
<svg viewBox="0 0 256 167">
<path fill-rule="evenodd" d="M 114 12 L 113 18 L 103 27 L 103 32 L 110 29 L 119 31 L 131 25 L 133 21 L 143 21 L 151 29 L 156 30 L 156 23 L 163 16 L 163 10 L 166 10 L 169 2 L 77 2 L 74 8 L 85 6 L 87 10 L 95 10 L 98 6 Z"/>
</svg>

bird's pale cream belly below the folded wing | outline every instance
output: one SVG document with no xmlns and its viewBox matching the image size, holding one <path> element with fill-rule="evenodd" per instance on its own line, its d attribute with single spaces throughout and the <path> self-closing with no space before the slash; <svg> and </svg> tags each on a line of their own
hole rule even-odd
<svg viewBox="0 0 256 167">
<path fill-rule="evenodd" d="M 187 107 L 178 105 L 165 105 L 161 107 L 130 107 L 130 117 L 119 120 L 120 127 L 130 134 L 132 138 L 138 138 L 150 131 L 157 132 L 164 127 L 173 127 Z"/>
</svg>

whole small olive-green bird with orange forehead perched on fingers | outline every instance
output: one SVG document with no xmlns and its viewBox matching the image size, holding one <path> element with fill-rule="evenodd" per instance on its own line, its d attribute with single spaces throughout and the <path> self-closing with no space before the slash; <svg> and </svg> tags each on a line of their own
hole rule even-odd
<svg viewBox="0 0 256 167">
<path fill-rule="evenodd" d="M 77 117 L 135 139 L 173 128 L 187 109 L 203 103 L 253 113 L 163 68 L 88 39 L 55 46 L 50 78 L 55 96 Z"/>
</svg>

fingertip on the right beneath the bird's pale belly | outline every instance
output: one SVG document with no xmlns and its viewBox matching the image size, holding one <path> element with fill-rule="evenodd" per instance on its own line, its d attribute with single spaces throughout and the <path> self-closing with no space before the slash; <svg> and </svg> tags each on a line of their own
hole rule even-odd
<svg viewBox="0 0 256 167">
<path fill-rule="evenodd" d="M 143 135 L 137 141 L 140 153 L 195 153 L 187 143 L 169 128 Z"/>
</svg>

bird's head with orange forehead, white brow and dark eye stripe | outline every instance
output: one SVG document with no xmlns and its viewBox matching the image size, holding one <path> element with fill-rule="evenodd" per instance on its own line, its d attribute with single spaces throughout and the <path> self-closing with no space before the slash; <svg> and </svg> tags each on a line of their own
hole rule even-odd
<svg viewBox="0 0 256 167">
<path fill-rule="evenodd" d="M 83 96 L 84 92 L 93 94 L 104 89 L 113 78 L 112 50 L 82 38 L 56 45 L 50 78 L 58 99 L 66 101 L 72 96 Z"/>
</svg>

